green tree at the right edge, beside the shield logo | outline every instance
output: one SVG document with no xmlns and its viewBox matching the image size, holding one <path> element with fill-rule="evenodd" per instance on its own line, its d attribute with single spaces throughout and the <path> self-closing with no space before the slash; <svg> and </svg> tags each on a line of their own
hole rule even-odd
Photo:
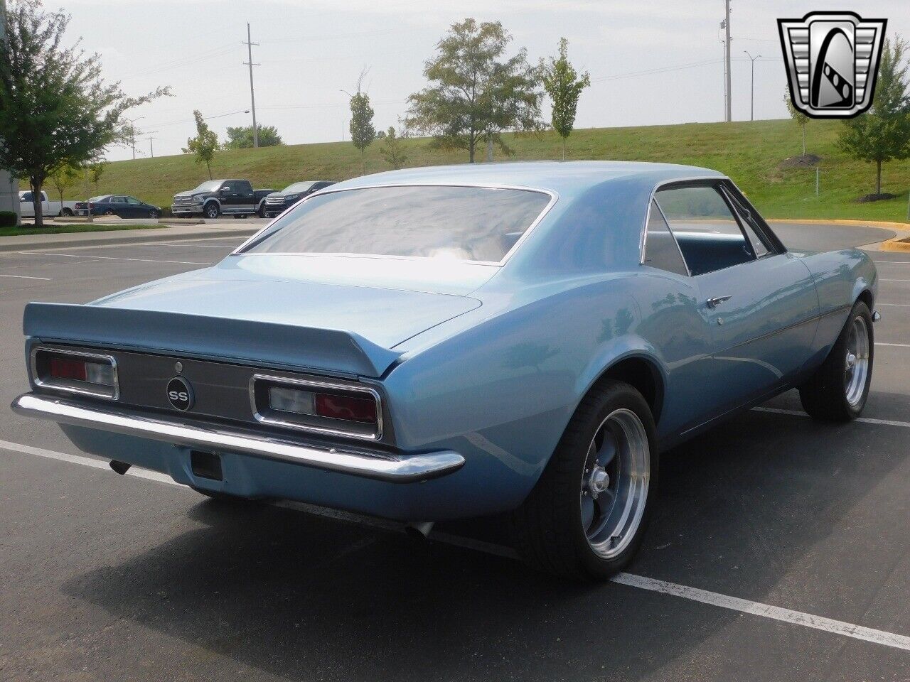
<svg viewBox="0 0 910 682">
<path fill-rule="evenodd" d="M 907 42 L 885 40 L 872 107 L 844 121 L 838 145 L 862 161 L 875 161 L 875 194 L 882 194 L 882 164 L 910 157 L 910 95 L 907 93 Z"/>
</svg>

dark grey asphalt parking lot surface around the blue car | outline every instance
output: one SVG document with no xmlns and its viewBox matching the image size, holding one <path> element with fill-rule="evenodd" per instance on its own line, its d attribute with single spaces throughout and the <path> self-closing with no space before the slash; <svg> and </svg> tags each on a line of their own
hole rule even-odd
<svg viewBox="0 0 910 682">
<path fill-rule="evenodd" d="M 892 236 L 774 228 L 794 249 Z M 239 241 L 0 254 L 0 679 L 910 679 L 910 254 L 871 252 L 864 419 L 817 424 L 791 392 L 667 453 L 629 573 L 578 586 L 516 562 L 495 519 L 421 543 L 219 504 L 9 411 L 27 301 L 84 303 Z"/>
</svg>

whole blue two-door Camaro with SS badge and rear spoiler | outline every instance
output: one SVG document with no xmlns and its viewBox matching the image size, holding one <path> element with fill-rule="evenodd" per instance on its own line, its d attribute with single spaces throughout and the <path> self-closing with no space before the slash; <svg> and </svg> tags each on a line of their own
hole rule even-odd
<svg viewBox="0 0 910 682">
<path fill-rule="evenodd" d="M 788 251 L 719 173 L 537 163 L 359 177 L 216 266 L 25 308 L 15 411 L 209 496 L 431 522 L 507 513 L 531 564 L 603 578 L 659 454 L 798 387 L 869 391 L 877 276 Z"/>
</svg>

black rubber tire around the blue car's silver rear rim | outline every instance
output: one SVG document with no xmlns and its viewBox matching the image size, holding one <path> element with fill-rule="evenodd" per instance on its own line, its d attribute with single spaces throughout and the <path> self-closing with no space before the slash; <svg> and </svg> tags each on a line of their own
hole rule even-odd
<svg viewBox="0 0 910 682">
<path fill-rule="evenodd" d="M 637 421 L 641 426 L 636 442 L 644 448 L 648 464 L 644 475 L 636 479 L 644 491 L 641 502 L 634 507 L 637 513 L 623 516 L 622 509 L 626 507 L 617 507 L 619 517 L 637 518 L 637 526 L 629 527 L 628 533 L 622 536 L 610 537 L 606 547 L 599 550 L 594 547 L 594 540 L 589 540 L 591 528 L 586 529 L 582 520 L 584 505 L 596 505 L 591 496 L 597 497 L 586 486 L 592 478 L 591 468 L 586 467 L 592 461 L 590 448 L 596 444 L 596 436 L 602 434 L 602 429 L 616 415 Z M 597 456 L 597 452 L 593 455 Z M 612 461 L 622 466 L 624 457 L 624 454 L 613 456 Z M 512 514 L 515 547 L 521 557 L 531 567 L 577 580 L 605 580 L 621 571 L 641 546 L 651 517 L 658 459 L 654 419 L 642 394 L 620 381 L 605 380 L 596 386 L 572 416 L 531 495 Z M 622 476 L 617 475 L 609 485 L 621 481 Z M 611 498 L 618 499 L 615 496 L 607 499 Z M 603 516 L 612 517 L 612 514 Z M 614 546 L 617 538 L 619 547 Z"/>
</svg>

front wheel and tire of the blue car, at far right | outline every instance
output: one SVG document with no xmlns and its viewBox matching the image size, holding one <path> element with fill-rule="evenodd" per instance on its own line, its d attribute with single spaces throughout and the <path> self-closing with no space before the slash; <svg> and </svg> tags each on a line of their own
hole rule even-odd
<svg viewBox="0 0 910 682">
<path fill-rule="evenodd" d="M 860 340 L 861 327 L 865 330 L 864 342 Z M 857 346 L 861 346 L 859 352 L 855 352 Z M 874 356 L 872 313 L 863 301 L 857 301 L 822 366 L 800 386 L 803 409 L 826 422 L 847 422 L 860 416 L 869 397 Z M 856 376 L 861 367 L 862 376 Z"/>
</svg>

